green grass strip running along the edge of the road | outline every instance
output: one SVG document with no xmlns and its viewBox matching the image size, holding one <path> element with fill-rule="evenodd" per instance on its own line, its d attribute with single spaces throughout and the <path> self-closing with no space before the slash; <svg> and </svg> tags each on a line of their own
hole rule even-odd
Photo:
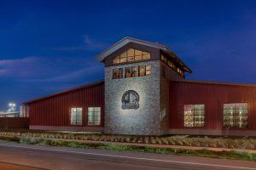
<svg viewBox="0 0 256 170">
<path fill-rule="evenodd" d="M 49 146 L 67 146 L 72 148 L 97 149 L 97 150 L 130 150 L 145 153 L 157 153 L 168 155 L 183 155 L 183 156 L 202 156 L 219 159 L 237 159 L 256 161 L 256 154 L 247 152 L 232 151 L 212 151 L 212 150 L 185 150 L 177 148 L 154 148 L 148 146 L 134 146 L 121 144 L 99 144 L 99 143 L 80 143 L 74 141 L 61 141 L 51 139 L 32 139 L 24 138 L 19 140 L 22 144 L 39 144 Z"/>
</svg>

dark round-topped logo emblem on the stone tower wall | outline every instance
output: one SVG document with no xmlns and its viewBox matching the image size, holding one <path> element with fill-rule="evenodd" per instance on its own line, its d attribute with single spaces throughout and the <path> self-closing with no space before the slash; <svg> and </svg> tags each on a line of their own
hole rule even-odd
<svg viewBox="0 0 256 170">
<path fill-rule="evenodd" d="M 122 109 L 135 109 L 139 108 L 140 97 L 134 90 L 128 90 L 122 97 Z"/>
</svg>

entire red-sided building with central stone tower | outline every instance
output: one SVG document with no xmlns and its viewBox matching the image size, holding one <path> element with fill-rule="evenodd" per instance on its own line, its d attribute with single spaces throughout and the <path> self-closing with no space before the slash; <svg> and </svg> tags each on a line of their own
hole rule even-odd
<svg viewBox="0 0 256 170">
<path fill-rule="evenodd" d="M 31 129 L 256 135 L 256 85 L 185 80 L 171 49 L 125 37 L 96 56 L 105 79 L 23 103 Z"/>
</svg>

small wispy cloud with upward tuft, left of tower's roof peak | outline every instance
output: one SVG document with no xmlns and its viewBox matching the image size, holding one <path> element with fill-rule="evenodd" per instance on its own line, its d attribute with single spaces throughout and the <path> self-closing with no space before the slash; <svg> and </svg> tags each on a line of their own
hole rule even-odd
<svg viewBox="0 0 256 170">
<path fill-rule="evenodd" d="M 56 51 L 66 51 L 66 52 L 73 52 L 73 51 L 94 51 L 102 48 L 106 48 L 108 44 L 104 42 L 97 42 L 90 39 L 88 35 L 83 36 L 83 43 L 78 46 L 70 46 L 70 47 L 59 47 L 54 48 Z"/>
</svg>

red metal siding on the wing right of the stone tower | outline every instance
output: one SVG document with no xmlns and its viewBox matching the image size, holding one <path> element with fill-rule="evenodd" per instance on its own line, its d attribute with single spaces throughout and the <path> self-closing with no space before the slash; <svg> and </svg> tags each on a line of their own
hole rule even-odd
<svg viewBox="0 0 256 170">
<path fill-rule="evenodd" d="M 170 128 L 183 127 L 183 105 L 205 105 L 205 127 L 223 130 L 223 105 L 248 103 L 248 130 L 256 130 L 256 88 L 203 82 L 170 82 Z"/>
</svg>

